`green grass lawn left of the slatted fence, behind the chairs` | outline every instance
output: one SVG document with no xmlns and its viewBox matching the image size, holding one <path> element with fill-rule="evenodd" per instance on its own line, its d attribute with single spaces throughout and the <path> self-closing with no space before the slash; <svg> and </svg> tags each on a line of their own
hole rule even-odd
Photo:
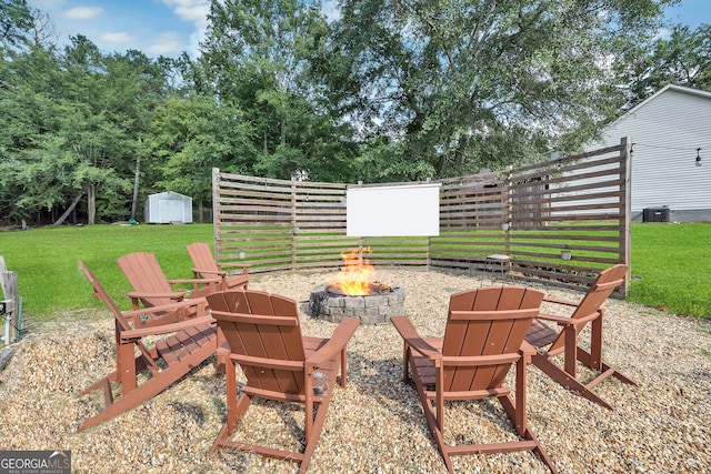
<svg viewBox="0 0 711 474">
<path fill-rule="evenodd" d="M 186 245 L 212 245 L 212 224 L 88 225 L 0 232 L 0 255 L 18 272 L 18 292 L 24 316 L 51 320 L 56 311 L 100 307 L 91 285 L 79 270 L 83 260 L 122 310 L 121 297 L 131 286 L 117 259 L 131 252 L 152 252 L 168 279 L 192 278 Z"/>
</svg>

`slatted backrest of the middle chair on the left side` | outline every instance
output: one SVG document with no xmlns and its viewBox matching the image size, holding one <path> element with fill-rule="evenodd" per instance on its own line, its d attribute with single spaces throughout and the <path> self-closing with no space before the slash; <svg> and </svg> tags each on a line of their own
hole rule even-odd
<svg viewBox="0 0 711 474">
<path fill-rule="evenodd" d="M 148 252 L 129 253 L 117 261 L 134 291 L 141 293 L 173 292 L 156 255 Z M 170 297 L 141 297 L 146 307 L 174 303 Z"/>
</svg>

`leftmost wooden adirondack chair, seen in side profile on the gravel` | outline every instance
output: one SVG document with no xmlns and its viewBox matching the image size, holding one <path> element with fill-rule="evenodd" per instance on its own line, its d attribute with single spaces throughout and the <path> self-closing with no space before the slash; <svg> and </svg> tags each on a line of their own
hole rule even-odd
<svg viewBox="0 0 711 474">
<path fill-rule="evenodd" d="M 81 424 L 78 430 L 81 432 L 147 402 L 200 365 L 214 354 L 218 335 L 214 320 L 206 315 L 208 303 L 204 297 L 121 312 L 93 272 L 83 262 L 79 262 L 79 266 L 91 282 L 94 296 L 113 313 L 117 365 L 114 372 L 81 392 L 80 396 L 102 389 L 106 402 L 104 410 Z M 161 325 L 146 321 L 156 313 L 179 309 L 194 317 Z M 166 337 L 152 346 L 144 342 L 147 337 L 161 334 Z M 137 376 L 143 371 L 150 371 L 150 376 L 139 386 Z M 120 384 L 118 400 L 114 400 L 112 383 Z"/>
</svg>

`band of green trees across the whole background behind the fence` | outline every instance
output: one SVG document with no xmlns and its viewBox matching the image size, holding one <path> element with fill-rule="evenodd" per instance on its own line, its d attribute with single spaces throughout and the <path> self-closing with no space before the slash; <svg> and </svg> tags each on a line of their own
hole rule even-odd
<svg viewBox="0 0 711 474">
<path fill-rule="evenodd" d="M 573 152 L 665 83 L 711 89 L 703 24 L 677 0 L 213 0 L 196 58 L 58 48 L 0 2 L 0 220 L 137 218 L 146 195 L 211 201 L 211 170 L 439 179 Z"/>
</svg>

